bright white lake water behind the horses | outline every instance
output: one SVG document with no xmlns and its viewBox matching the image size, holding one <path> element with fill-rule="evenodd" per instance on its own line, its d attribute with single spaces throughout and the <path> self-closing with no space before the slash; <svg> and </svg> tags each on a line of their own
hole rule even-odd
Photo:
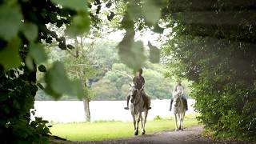
<svg viewBox="0 0 256 144">
<path fill-rule="evenodd" d="M 188 100 L 189 110 L 186 114 L 194 114 L 193 99 Z M 92 101 L 90 102 L 91 121 L 122 121 L 130 122 L 130 110 L 124 110 L 126 101 Z M 149 111 L 148 120 L 153 120 L 157 115 L 161 118 L 170 118 L 173 114 L 169 111 L 170 100 L 151 100 L 152 109 Z M 49 122 L 85 122 L 85 113 L 82 101 L 35 101 L 36 115 Z"/>
</svg>

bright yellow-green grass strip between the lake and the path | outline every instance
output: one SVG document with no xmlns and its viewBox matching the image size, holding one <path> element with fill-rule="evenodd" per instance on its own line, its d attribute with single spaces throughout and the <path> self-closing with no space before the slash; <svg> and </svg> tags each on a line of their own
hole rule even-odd
<svg viewBox="0 0 256 144">
<path fill-rule="evenodd" d="M 184 126 L 197 126 L 196 119 L 186 118 Z M 139 125 L 141 126 L 141 125 Z M 146 122 L 146 134 L 163 130 L 174 130 L 174 120 L 160 119 Z M 134 137 L 132 122 L 83 122 L 54 124 L 50 131 L 52 134 L 70 141 L 103 141 L 116 138 Z M 140 132 L 140 130 L 139 130 Z"/>
</svg>

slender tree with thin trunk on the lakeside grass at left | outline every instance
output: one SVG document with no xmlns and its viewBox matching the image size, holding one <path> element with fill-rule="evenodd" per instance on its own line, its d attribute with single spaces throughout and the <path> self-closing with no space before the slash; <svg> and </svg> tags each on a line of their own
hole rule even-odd
<svg viewBox="0 0 256 144">
<path fill-rule="evenodd" d="M 95 73 L 95 69 L 90 62 L 88 55 L 90 52 L 90 46 L 86 47 L 84 42 L 85 37 L 74 38 L 74 50 L 70 50 L 70 54 L 66 55 L 63 62 L 66 64 L 66 70 L 72 79 L 78 78 L 83 82 L 83 104 L 86 114 L 86 122 L 90 122 L 90 100 L 93 98 L 92 94 L 87 86 L 88 78 L 92 77 Z"/>
</svg>

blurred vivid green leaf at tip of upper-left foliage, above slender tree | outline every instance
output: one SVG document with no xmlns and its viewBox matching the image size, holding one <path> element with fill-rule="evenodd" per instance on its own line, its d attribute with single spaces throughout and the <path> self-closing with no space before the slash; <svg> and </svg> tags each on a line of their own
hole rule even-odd
<svg viewBox="0 0 256 144">
<path fill-rule="evenodd" d="M 70 36 L 77 36 L 79 34 L 84 34 L 89 30 L 89 28 L 89 14 L 86 12 L 81 12 L 73 18 L 71 25 L 66 28 L 66 33 Z"/>
</svg>

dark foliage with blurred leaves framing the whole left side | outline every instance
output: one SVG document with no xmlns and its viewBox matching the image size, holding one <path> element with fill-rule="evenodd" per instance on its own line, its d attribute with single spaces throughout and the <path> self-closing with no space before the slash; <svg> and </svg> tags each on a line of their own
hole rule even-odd
<svg viewBox="0 0 256 144">
<path fill-rule="evenodd" d="M 70 34 L 83 33 L 90 25 L 86 2 L 78 0 L 82 5 L 74 3 L 72 6 L 66 6 L 64 1 L 53 2 L 0 2 L 1 143 L 47 142 L 46 135 L 50 131 L 46 121 L 36 118 L 30 122 L 34 95 L 38 86 L 42 88 L 37 83 L 37 69 L 46 73 L 45 91 L 54 98 L 70 92 L 78 95 L 80 91 L 78 82 L 66 78 L 61 63 L 55 62 L 48 70 L 43 65 L 39 66 L 47 58 L 42 42 L 50 44 L 55 41 L 62 50 L 71 47 L 66 45 L 65 38 L 49 30 L 46 24 L 66 25 Z"/>
</svg>

